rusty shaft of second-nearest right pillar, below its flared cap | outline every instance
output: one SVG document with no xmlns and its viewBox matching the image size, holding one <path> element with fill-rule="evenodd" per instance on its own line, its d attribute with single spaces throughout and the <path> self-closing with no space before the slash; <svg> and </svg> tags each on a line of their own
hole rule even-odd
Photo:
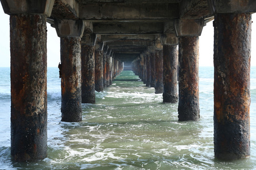
<svg viewBox="0 0 256 170">
<path fill-rule="evenodd" d="M 199 37 L 180 37 L 179 121 L 199 120 Z"/>
</svg>

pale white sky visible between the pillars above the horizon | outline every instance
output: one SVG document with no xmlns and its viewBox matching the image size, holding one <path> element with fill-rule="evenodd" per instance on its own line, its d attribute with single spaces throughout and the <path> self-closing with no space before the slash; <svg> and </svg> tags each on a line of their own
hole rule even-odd
<svg viewBox="0 0 256 170">
<path fill-rule="evenodd" d="M 10 67 L 9 15 L 0 7 L 0 67 Z M 251 32 L 251 66 L 256 66 L 256 14 L 253 14 Z M 60 38 L 55 28 L 47 23 L 47 66 L 57 67 L 60 62 Z M 207 23 L 199 40 L 199 66 L 213 66 L 213 24 Z"/>
</svg>

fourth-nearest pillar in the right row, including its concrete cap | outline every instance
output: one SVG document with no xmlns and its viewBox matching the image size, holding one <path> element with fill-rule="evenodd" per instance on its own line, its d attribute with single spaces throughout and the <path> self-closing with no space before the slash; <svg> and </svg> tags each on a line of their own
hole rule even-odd
<svg viewBox="0 0 256 170">
<path fill-rule="evenodd" d="M 155 94 L 163 93 L 163 45 L 155 40 Z"/>
</svg>

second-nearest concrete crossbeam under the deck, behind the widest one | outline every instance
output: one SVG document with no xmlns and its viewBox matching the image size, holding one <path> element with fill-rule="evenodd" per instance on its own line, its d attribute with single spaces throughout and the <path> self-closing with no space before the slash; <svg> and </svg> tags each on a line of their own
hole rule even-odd
<svg viewBox="0 0 256 170">
<path fill-rule="evenodd" d="M 120 23 L 93 23 L 93 32 L 96 34 L 156 34 L 163 33 L 162 22 L 120 22 Z"/>
</svg>

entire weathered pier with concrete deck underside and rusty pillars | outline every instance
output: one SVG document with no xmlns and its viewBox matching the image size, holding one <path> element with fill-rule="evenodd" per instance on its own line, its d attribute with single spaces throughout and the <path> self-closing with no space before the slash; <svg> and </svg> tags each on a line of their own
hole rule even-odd
<svg viewBox="0 0 256 170">
<path fill-rule="evenodd" d="M 1 0 L 10 15 L 11 155 L 47 156 L 47 28 L 61 46 L 61 121 L 80 122 L 129 63 L 145 86 L 198 121 L 199 39 L 214 26 L 214 155 L 250 156 L 250 42 L 255 1 Z M 126 68 L 125 68 L 126 69 Z M 177 74 L 179 76 L 177 76 Z M 179 81 L 179 83 L 177 83 Z M 177 91 L 179 86 L 179 92 Z"/>
</svg>

